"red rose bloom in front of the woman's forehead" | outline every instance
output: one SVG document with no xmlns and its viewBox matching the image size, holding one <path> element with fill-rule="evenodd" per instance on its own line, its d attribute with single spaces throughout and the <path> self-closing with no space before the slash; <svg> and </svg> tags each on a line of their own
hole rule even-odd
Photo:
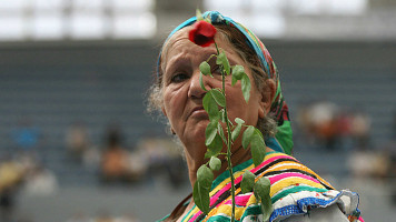
<svg viewBox="0 0 396 222">
<path fill-rule="evenodd" d="M 215 42 L 216 28 L 204 20 L 197 21 L 194 24 L 194 29 L 188 33 L 188 39 L 200 46 L 209 47 Z"/>
</svg>

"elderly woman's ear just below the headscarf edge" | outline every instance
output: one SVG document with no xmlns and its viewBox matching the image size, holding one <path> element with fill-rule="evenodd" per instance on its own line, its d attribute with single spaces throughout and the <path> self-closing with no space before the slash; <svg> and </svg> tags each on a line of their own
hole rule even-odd
<svg viewBox="0 0 396 222">
<path fill-rule="evenodd" d="M 269 112 L 276 93 L 276 83 L 273 79 L 267 79 L 261 90 L 261 100 L 259 101 L 258 117 L 265 118 Z"/>
</svg>

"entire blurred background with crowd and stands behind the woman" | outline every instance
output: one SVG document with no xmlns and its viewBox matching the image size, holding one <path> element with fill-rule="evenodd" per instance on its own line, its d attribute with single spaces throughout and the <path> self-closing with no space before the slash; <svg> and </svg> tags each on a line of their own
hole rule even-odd
<svg viewBox="0 0 396 222">
<path fill-rule="evenodd" d="M 396 209 L 392 0 L 1 0 L 0 222 L 137 222 L 189 191 L 146 91 L 160 42 L 196 8 L 249 27 L 277 63 L 295 155 Z"/>
</svg>

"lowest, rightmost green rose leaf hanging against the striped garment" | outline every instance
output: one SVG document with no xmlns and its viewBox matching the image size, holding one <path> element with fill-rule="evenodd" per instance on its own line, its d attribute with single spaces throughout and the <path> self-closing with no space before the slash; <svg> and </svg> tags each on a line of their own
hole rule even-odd
<svg viewBox="0 0 396 222">
<path fill-rule="evenodd" d="M 270 182 L 268 178 L 260 178 L 254 186 L 254 192 L 256 199 L 261 203 L 263 221 L 268 221 L 274 211 L 273 202 L 269 195 Z"/>
</svg>

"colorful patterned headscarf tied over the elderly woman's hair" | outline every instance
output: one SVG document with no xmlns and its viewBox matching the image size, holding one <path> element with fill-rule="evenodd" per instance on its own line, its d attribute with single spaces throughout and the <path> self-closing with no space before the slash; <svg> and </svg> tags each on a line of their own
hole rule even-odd
<svg viewBox="0 0 396 222">
<path fill-rule="evenodd" d="M 278 127 L 277 127 L 277 133 L 275 138 L 267 138 L 266 144 L 276 151 L 291 154 L 293 131 L 290 125 L 289 112 L 288 112 L 287 104 L 284 100 L 284 97 L 281 94 L 278 70 L 268 50 L 249 29 L 245 28 L 242 24 L 234 21 L 228 17 L 224 17 L 218 11 L 207 11 L 202 14 L 202 17 L 204 19 L 209 18 L 212 24 L 227 24 L 237 28 L 246 37 L 249 47 L 255 50 L 256 54 L 258 56 L 263 64 L 264 71 L 268 74 L 268 78 L 273 79 L 276 82 L 277 90 L 276 90 L 276 95 L 274 97 L 271 103 L 270 112 L 276 118 Z M 185 22 L 179 24 L 176 29 L 174 29 L 174 31 L 170 32 L 168 39 L 171 36 L 174 36 L 175 32 L 177 32 L 178 30 L 191 26 L 196 21 L 197 21 L 196 17 L 186 20 Z M 167 42 L 168 39 L 165 42 Z"/>
</svg>

